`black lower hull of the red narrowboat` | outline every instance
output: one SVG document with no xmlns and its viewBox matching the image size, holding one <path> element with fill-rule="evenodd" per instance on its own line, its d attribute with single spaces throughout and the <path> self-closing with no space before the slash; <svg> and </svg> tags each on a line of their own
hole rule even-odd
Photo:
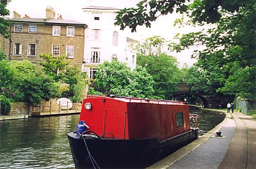
<svg viewBox="0 0 256 169">
<path fill-rule="evenodd" d="M 88 151 L 100 168 L 145 168 L 196 140 L 197 130 L 161 142 L 156 138 L 140 140 L 81 138 L 74 132 L 68 133 L 67 136 L 77 169 L 93 168 Z"/>
</svg>

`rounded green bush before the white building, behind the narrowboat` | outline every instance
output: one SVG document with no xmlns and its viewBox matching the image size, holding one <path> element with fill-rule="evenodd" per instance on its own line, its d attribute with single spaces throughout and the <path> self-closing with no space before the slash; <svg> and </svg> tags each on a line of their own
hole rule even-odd
<svg viewBox="0 0 256 169">
<path fill-rule="evenodd" d="M 152 97 L 152 77 L 143 68 L 131 71 L 117 60 L 104 62 L 98 67 L 93 85 L 97 91 L 116 96 Z"/>
</svg>

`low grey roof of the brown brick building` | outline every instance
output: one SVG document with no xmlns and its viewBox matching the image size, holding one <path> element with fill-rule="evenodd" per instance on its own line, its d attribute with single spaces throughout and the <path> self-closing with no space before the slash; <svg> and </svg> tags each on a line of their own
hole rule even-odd
<svg viewBox="0 0 256 169">
<path fill-rule="evenodd" d="M 74 26 L 87 26 L 81 22 L 65 19 L 45 19 L 45 18 L 8 18 L 10 22 L 29 22 L 38 24 L 60 24 L 60 25 L 74 25 Z"/>
</svg>

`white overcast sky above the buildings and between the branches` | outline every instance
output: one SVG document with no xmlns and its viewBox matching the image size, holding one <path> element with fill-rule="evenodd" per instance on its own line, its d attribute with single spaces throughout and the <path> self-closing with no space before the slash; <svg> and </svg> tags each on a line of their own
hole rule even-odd
<svg viewBox="0 0 256 169">
<path fill-rule="evenodd" d="M 64 19 L 75 20 L 77 22 L 83 22 L 86 20 L 83 18 L 82 8 L 87 6 L 106 6 L 113 8 L 129 8 L 135 7 L 140 0 L 12 0 L 7 8 L 10 11 L 17 11 L 22 17 L 28 15 L 31 18 L 45 18 L 45 8 L 51 6 L 56 14 L 60 14 Z M 175 34 L 180 31 L 184 33 L 186 30 L 179 30 L 173 27 L 173 21 L 176 15 L 167 15 L 157 18 L 156 22 L 152 24 L 152 27 L 146 28 L 138 27 L 137 33 L 131 34 L 131 38 L 136 40 L 143 40 L 152 36 L 161 36 L 166 40 L 172 40 Z M 191 28 L 190 28 L 191 29 Z M 182 66 L 185 62 L 191 65 L 195 60 L 190 59 L 191 51 L 185 51 L 181 54 L 172 54 L 177 57 Z"/>
</svg>

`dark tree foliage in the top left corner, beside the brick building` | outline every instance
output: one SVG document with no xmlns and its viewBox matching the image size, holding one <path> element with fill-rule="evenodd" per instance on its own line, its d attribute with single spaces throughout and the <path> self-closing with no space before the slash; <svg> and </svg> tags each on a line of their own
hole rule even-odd
<svg viewBox="0 0 256 169">
<path fill-rule="evenodd" d="M 10 26 L 10 22 L 5 20 L 3 17 L 10 14 L 10 11 L 6 9 L 6 5 L 10 3 L 10 0 L 1 0 L 0 1 L 0 34 L 4 36 L 4 38 L 10 37 L 10 32 L 8 30 Z"/>
</svg>

